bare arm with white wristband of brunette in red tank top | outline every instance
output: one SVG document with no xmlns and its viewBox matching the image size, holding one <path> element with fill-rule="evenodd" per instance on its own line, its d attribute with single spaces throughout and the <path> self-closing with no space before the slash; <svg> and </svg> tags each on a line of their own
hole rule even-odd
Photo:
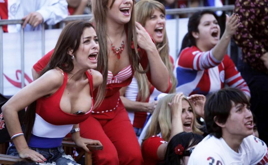
<svg viewBox="0 0 268 165">
<path fill-rule="evenodd" d="M 50 70 L 36 81 L 22 88 L 2 106 L 10 137 L 17 133 L 22 133 L 17 112 L 38 98 L 56 92 L 63 83 L 63 78 L 59 70 Z M 35 162 L 46 161 L 42 155 L 29 149 L 24 136 L 17 136 L 12 141 L 21 158 L 31 159 Z"/>
</svg>

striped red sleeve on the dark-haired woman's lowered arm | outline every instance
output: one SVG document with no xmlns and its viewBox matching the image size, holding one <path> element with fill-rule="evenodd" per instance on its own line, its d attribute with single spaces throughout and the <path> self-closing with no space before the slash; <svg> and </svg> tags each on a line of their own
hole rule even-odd
<svg viewBox="0 0 268 165">
<path fill-rule="evenodd" d="M 242 78 L 240 72 L 235 67 L 234 62 L 228 55 L 225 55 L 223 65 L 225 67 L 225 83 L 232 88 L 239 88 L 246 95 L 251 97 L 246 81 Z"/>
</svg>

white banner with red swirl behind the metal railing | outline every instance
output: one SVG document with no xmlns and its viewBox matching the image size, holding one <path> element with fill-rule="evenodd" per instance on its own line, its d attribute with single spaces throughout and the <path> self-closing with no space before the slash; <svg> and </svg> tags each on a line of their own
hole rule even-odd
<svg viewBox="0 0 268 165">
<path fill-rule="evenodd" d="M 174 61 L 177 58 L 176 30 L 179 30 L 179 50 L 181 41 L 187 33 L 188 18 L 179 19 L 179 29 L 176 29 L 176 20 L 166 20 L 167 37 L 170 46 L 170 55 Z M 54 48 L 61 29 L 45 30 L 45 53 Z M 24 84 L 31 83 L 31 68 L 42 57 L 41 31 L 24 32 Z M 21 88 L 21 50 L 20 33 L 3 33 L 3 95 L 14 95 Z"/>
</svg>

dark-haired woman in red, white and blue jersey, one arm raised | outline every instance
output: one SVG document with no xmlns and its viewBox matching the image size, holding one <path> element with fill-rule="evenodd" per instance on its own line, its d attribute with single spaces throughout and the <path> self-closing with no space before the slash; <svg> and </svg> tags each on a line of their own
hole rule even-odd
<svg viewBox="0 0 268 165">
<path fill-rule="evenodd" d="M 238 15 L 226 19 L 226 28 L 220 39 L 221 29 L 217 15 L 212 11 L 195 12 L 188 22 L 189 47 L 181 51 L 175 66 L 178 84 L 176 91 L 185 95 L 210 95 L 224 88 L 241 89 L 248 99 L 250 90 L 226 55 L 230 39 L 240 25 Z"/>
</svg>

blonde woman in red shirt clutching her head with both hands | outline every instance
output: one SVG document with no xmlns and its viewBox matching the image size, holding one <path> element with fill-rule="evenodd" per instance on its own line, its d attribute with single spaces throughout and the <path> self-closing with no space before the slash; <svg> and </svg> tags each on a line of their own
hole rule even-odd
<svg viewBox="0 0 268 165">
<path fill-rule="evenodd" d="M 155 165 L 164 160 L 170 139 L 181 132 L 202 134 L 195 117 L 204 117 L 204 95 L 185 97 L 168 94 L 158 101 L 142 142 L 144 164 Z"/>
</svg>

